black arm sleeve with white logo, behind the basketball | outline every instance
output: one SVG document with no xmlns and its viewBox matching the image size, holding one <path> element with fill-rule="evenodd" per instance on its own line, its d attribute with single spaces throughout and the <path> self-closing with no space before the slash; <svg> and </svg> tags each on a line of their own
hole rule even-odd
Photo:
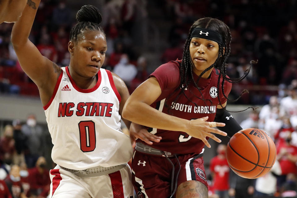
<svg viewBox="0 0 297 198">
<path fill-rule="evenodd" d="M 233 116 L 225 109 L 217 109 L 215 122 L 225 123 L 225 127 L 217 127 L 219 130 L 224 131 L 229 137 L 232 137 L 235 133 L 242 130 L 239 123 L 233 118 Z"/>
</svg>

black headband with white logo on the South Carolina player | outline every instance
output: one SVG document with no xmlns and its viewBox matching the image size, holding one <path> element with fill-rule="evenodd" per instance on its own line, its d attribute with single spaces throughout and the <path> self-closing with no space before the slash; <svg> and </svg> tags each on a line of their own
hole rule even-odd
<svg viewBox="0 0 297 198">
<path fill-rule="evenodd" d="M 190 38 L 192 37 L 204 38 L 207 40 L 215 41 L 219 44 L 222 44 L 223 46 L 225 45 L 221 34 L 205 28 L 194 28 Z"/>
</svg>

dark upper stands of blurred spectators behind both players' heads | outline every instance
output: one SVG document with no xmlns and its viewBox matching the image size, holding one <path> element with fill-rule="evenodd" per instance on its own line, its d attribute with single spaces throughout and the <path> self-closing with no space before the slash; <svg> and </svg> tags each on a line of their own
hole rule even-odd
<svg viewBox="0 0 297 198">
<path fill-rule="evenodd" d="M 244 86 L 250 94 L 237 103 L 263 105 L 277 92 L 279 85 L 287 88 L 297 78 L 296 1 L 102 2 L 101 26 L 108 45 L 103 68 L 118 74 L 130 93 L 158 65 L 182 58 L 191 24 L 204 16 L 221 19 L 230 27 L 232 42 L 227 67 L 230 78 L 243 75 L 249 62 L 258 60 L 247 78 L 234 85 L 230 99 L 237 98 Z M 61 67 L 69 64 L 67 44 L 70 28 L 75 23 L 75 12 L 73 6 L 70 8 L 63 0 L 41 1 L 29 37 L 41 54 Z M 151 24 L 159 32 L 159 40 L 145 42 L 143 40 L 153 32 L 144 26 Z M 10 43 L 11 28 L 12 24 L 0 25 L 0 93 L 38 96 L 37 87 L 24 74 L 15 56 Z M 161 45 L 160 50 L 150 48 L 151 45 Z"/>
</svg>

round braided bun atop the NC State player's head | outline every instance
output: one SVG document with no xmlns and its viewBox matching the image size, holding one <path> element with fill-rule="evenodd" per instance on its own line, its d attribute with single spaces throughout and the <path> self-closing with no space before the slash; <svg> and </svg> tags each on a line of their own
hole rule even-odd
<svg viewBox="0 0 297 198">
<path fill-rule="evenodd" d="M 96 24 L 100 24 L 102 21 L 102 17 L 97 7 L 92 5 L 85 5 L 82 6 L 77 12 L 76 20 L 78 22 L 93 22 Z"/>
</svg>

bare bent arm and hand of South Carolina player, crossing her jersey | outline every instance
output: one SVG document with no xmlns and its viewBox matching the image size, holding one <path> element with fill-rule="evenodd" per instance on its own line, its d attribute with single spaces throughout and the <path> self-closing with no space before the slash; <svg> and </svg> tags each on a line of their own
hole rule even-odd
<svg viewBox="0 0 297 198">
<path fill-rule="evenodd" d="M 184 131 L 192 137 L 199 138 L 210 148 L 206 136 L 217 142 L 221 142 L 212 133 L 226 136 L 226 133 L 209 126 L 205 122 L 208 117 L 196 120 L 187 120 L 162 113 L 150 105 L 161 95 L 161 87 L 155 77 L 144 81 L 128 98 L 123 117 L 137 124 L 147 127 L 165 129 L 169 131 Z M 216 123 L 217 126 L 225 126 L 224 123 Z"/>
</svg>

